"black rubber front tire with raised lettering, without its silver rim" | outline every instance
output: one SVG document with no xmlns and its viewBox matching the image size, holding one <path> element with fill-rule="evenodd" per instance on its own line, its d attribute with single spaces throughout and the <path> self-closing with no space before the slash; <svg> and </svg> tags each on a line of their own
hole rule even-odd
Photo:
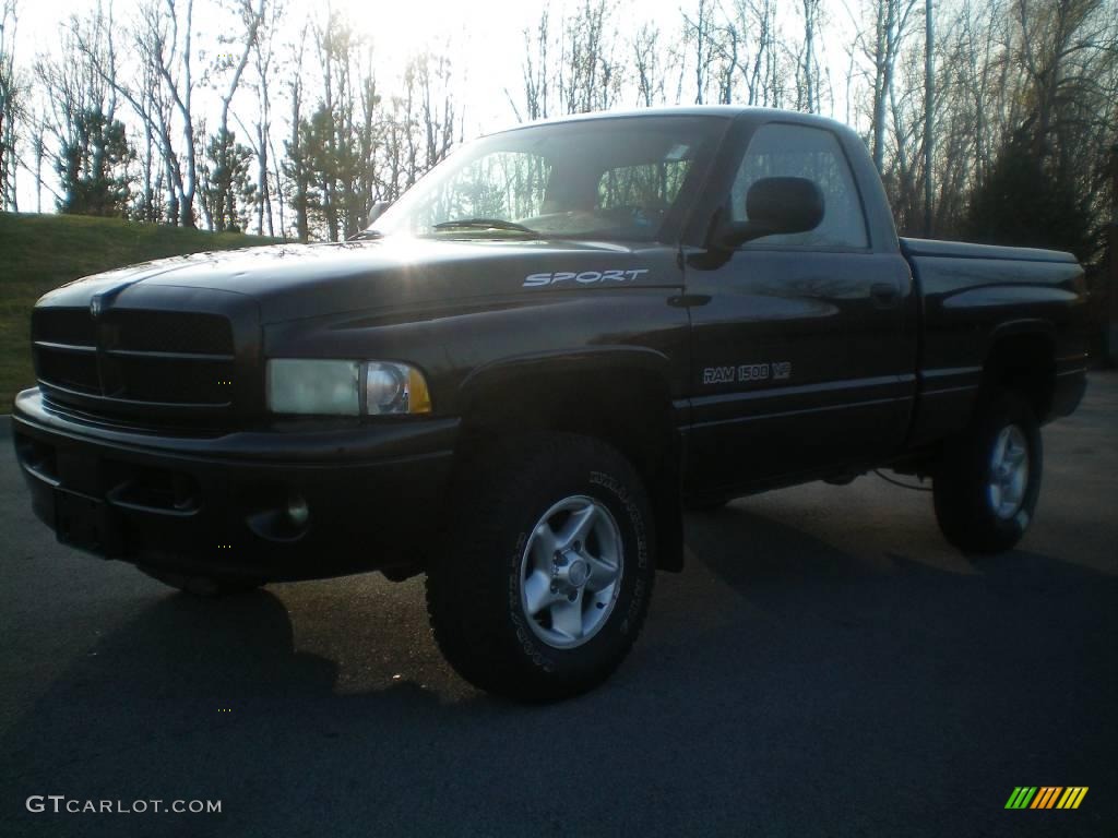
<svg viewBox="0 0 1118 838">
<path fill-rule="evenodd" d="M 514 701 L 558 701 L 601 683 L 636 640 L 655 578 L 650 504 L 636 472 L 609 446 L 566 434 L 490 451 L 463 470 L 446 547 L 427 572 L 427 610 L 443 655 L 474 686 Z M 578 607 L 598 620 L 594 632 L 574 648 L 556 648 L 539 636 L 548 618 L 532 618 L 521 587 L 528 588 L 524 566 L 536 555 L 538 524 L 550 528 L 553 518 L 546 516 L 572 498 L 609 520 L 622 559 L 603 617 L 578 592 Z M 601 596 L 584 583 L 587 596 Z"/>
</svg>

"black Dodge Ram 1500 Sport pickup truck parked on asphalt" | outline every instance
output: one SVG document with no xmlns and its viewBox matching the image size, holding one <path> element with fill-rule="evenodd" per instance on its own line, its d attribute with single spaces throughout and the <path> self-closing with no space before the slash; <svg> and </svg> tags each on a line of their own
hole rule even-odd
<svg viewBox="0 0 1118 838">
<path fill-rule="evenodd" d="M 1005 550 L 1083 393 L 1074 258 L 898 239 L 828 120 L 529 125 L 382 209 L 38 302 L 13 437 L 60 541 L 196 593 L 423 572 L 465 678 L 558 698 L 624 658 L 685 510 L 889 468 Z"/>
</svg>

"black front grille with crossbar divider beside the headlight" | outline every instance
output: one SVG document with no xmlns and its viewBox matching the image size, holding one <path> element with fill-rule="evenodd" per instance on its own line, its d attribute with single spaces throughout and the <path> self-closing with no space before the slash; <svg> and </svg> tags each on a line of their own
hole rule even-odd
<svg viewBox="0 0 1118 838">
<path fill-rule="evenodd" d="M 218 314 L 36 308 L 31 342 L 39 383 L 64 402 L 111 415 L 231 407 L 233 327 Z"/>
</svg>

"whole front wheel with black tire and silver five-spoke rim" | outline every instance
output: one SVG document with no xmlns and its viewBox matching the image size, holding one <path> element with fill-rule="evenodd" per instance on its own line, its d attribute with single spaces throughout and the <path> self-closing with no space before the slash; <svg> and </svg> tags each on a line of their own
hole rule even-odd
<svg viewBox="0 0 1118 838">
<path fill-rule="evenodd" d="M 636 472 L 574 435 L 524 440 L 467 470 L 448 544 L 427 573 L 444 656 L 475 686 L 514 699 L 594 687 L 625 658 L 652 594 L 653 532 Z"/>
</svg>

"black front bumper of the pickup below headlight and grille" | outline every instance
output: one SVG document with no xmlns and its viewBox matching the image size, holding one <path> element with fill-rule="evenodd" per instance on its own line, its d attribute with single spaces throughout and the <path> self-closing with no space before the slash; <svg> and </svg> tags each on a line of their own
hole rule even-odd
<svg viewBox="0 0 1118 838">
<path fill-rule="evenodd" d="M 16 398 L 36 515 L 108 559 L 265 581 L 421 564 L 443 518 L 458 420 L 220 435 L 110 427 Z M 287 514 L 302 499 L 300 525 Z"/>
</svg>

